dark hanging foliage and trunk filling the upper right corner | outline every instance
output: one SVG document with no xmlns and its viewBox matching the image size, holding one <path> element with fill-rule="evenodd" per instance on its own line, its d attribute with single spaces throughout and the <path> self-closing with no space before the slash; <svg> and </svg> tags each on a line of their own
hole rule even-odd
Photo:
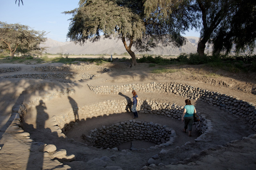
<svg viewBox="0 0 256 170">
<path fill-rule="evenodd" d="M 207 42 L 213 44 L 214 55 L 228 54 L 233 47 L 237 54 L 252 52 L 256 47 L 255 6 L 255 0 L 146 0 L 144 4 L 148 19 L 174 37 L 191 28 L 200 31 L 197 52 L 202 58 Z"/>
</svg>

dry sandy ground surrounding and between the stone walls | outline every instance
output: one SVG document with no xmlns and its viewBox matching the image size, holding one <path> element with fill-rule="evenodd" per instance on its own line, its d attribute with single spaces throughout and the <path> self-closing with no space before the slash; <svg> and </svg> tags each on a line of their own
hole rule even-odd
<svg viewBox="0 0 256 170">
<path fill-rule="evenodd" d="M 87 63 L 79 63 L 81 65 Z M 41 64 L 41 65 L 61 65 Z M 126 154 L 122 151 L 109 151 L 98 149 L 81 144 L 81 134 L 89 134 L 91 129 L 101 125 L 111 125 L 116 122 L 123 122 L 132 119 L 132 113 L 120 113 L 110 116 L 86 119 L 79 122 L 66 135 L 67 139 L 58 137 L 50 130 L 51 119 L 54 115 L 67 112 L 71 108 L 68 96 L 56 97 L 49 101 L 44 101 L 44 107 L 36 106 L 28 110 L 28 114 L 23 120 L 23 129 L 30 133 L 30 137 L 35 142 L 54 144 L 57 150 L 65 149 L 67 155 L 74 154 L 76 160 L 69 162 L 59 160 L 63 165 L 56 166 L 56 160 L 47 159 L 43 152 L 33 149 L 33 144 L 27 142 L 25 137 L 18 134 L 7 133 L 6 129 L 10 125 L 12 108 L 15 104 L 30 101 L 36 96 L 44 95 L 45 92 L 57 92 L 60 89 L 73 88 L 75 94 L 71 97 L 78 107 L 90 105 L 106 100 L 124 99 L 123 96 L 103 95 L 91 92 L 87 86 L 90 85 L 127 85 L 132 83 L 180 83 L 195 87 L 201 87 L 210 91 L 221 92 L 234 96 L 241 100 L 256 103 L 256 79 L 255 73 L 232 74 L 220 70 L 209 70 L 208 68 L 197 66 L 170 66 L 179 69 L 175 73 L 152 74 L 150 70 L 158 68 L 149 67 L 146 63 L 139 63 L 133 68 L 127 68 L 129 63 L 114 62 L 102 65 L 111 71 L 102 74 L 99 71 L 92 71 L 97 74 L 93 79 L 76 81 L 75 84 L 65 84 L 50 82 L 39 79 L 0 79 L 0 169 L 1 170 L 34 170 L 34 169 L 255 169 L 256 167 L 256 138 L 243 138 L 255 134 L 246 122 L 237 117 L 224 112 L 218 108 L 205 104 L 204 102 L 194 101 L 198 112 L 204 113 L 207 119 L 212 121 L 214 129 L 207 134 L 204 141 L 195 142 L 198 137 L 195 128 L 192 137 L 182 133 L 183 123 L 171 118 L 159 115 L 140 114 L 137 120 L 145 122 L 156 122 L 169 125 L 176 130 L 177 137 L 174 145 L 164 148 L 169 150 L 166 154 L 159 154 L 161 150 L 151 150 L 144 152 L 131 152 Z M 33 73 L 32 66 L 26 64 L 0 64 L 0 68 L 20 66 L 20 73 Z M 163 66 L 164 67 L 164 66 Z M 37 71 L 38 72 L 38 71 Z M 74 72 L 83 72 L 76 70 Z M 89 72 L 89 71 L 86 71 Z M 215 73 L 215 74 L 212 74 Z M 2 73 L 5 75 L 18 74 L 17 72 Z M 132 97 L 130 93 L 124 94 Z M 139 93 L 140 100 L 156 100 L 160 102 L 176 103 L 184 106 L 185 98 L 167 93 Z M 243 139 L 243 140 L 242 140 Z M 191 142 L 191 143 L 187 143 Z M 186 145 L 184 145 L 187 143 Z M 133 143 L 137 148 L 148 148 L 150 143 L 136 141 Z M 154 144 L 153 144 L 154 145 Z M 127 145 L 118 146 L 119 149 L 127 149 Z M 155 167 L 148 167 L 148 160 L 159 154 Z M 102 158 L 103 156 L 112 157 L 107 161 L 107 166 L 95 166 L 88 163 L 89 160 Z M 145 165 L 147 167 L 145 167 Z M 161 166 L 162 165 L 162 166 Z M 165 166 L 163 166 L 165 165 Z"/>
</svg>

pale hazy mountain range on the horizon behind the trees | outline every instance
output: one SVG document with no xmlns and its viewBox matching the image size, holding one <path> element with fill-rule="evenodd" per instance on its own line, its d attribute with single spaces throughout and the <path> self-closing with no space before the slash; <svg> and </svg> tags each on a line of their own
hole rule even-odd
<svg viewBox="0 0 256 170">
<path fill-rule="evenodd" d="M 179 55 L 180 53 L 196 53 L 198 37 L 186 37 L 188 40 L 186 44 L 180 48 L 167 46 L 152 48 L 151 51 L 145 52 L 147 54 L 155 55 Z M 56 54 L 123 54 L 126 52 L 124 44 L 121 40 L 116 39 L 103 39 L 97 42 L 87 41 L 83 46 L 75 44 L 74 42 L 59 42 L 52 39 L 47 39 L 47 41 L 41 45 L 41 47 L 48 47 L 46 49 L 47 53 Z M 139 54 L 138 51 L 132 49 L 134 53 Z"/>
</svg>

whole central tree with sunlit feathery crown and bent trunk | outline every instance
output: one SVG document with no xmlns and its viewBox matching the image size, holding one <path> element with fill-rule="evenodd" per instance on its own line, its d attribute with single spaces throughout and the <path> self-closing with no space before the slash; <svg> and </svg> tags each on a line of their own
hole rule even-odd
<svg viewBox="0 0 256 170">
<path fill-rule="evenodd" d="M 100 35 L 121 39 L 132 57 L 131 66 L 137 64 L 133 45 L 142 52 L 156 47 L 159 40 L 178 41 L 175 45 L 184 42 L 165 33 L 162 26 L 152 29 L 157 24 L 145 19 L 143 4 L 142 0 L 80 0 L 78 8 L 64 12 L 72 15 L 67 37 L 80 45 L 87 40 L 98 41 Z"/>
</svg>

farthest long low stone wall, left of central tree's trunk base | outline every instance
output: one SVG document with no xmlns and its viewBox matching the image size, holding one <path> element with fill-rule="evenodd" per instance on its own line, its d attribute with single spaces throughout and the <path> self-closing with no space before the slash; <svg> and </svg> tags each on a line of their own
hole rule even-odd
<svg viewBox="0 0 256 170">
<path fill-rule="evenodd" d="M 96 66 L 96 65 L 84 65 L 84 66 L 77 66 L 77 65 L 69 65 L 69 66 L 35 66 L 33 67 L 34 70 L 40 71 L 62 71 L 62 70 L 101 70 L 103 72 L 108 72 L 110 69 Z"/>
</svg>

